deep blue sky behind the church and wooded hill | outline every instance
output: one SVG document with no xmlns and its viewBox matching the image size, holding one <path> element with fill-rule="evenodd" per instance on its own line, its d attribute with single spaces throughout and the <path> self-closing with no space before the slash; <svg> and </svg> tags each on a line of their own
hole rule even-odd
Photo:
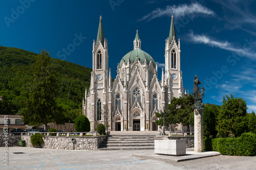
<svg viewBox="0 0 256 170">
<path fill-rule="evenodd" d="M 2 0 L 0 8 L 0 45 L 34 53 L 45 48 L 53 58 L 90 68 L 101 14 L 112 78 L 133 50 L 138 28 L 142 50 L 158 63 L 159 80 L 173 14 L 184 88 L 192 92 L 198 75 L 204 103 L 221 105 L 232 93 L 247 101 L 248 112 L 256 111 L 255 1 Z"/>
</svg>

